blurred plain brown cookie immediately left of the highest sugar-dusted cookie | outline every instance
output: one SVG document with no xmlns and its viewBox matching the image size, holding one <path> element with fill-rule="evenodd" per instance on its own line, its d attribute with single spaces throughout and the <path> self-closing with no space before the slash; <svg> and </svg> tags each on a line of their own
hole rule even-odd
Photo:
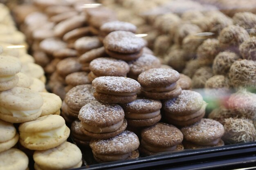
<svg viewBox="0 0 256 170">
<path fill-rule="evenodd" d="M 82 55 L 83 53 L 96 49 L 102 46 L 102 43 L 97 37 L 82 37 L 74 42 L 74 48 Z"/>
</svg>

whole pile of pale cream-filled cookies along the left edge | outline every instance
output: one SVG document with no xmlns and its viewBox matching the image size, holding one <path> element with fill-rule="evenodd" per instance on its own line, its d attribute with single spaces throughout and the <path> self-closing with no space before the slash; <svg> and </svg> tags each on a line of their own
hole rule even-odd
<svg viewBox="0 0 256 170">
<path fill-rule="evenodd" d="M 2 4 L 1 12 L 11 19 L 8 9 Z M 3 29 L 0 34 L 6 37 L 13 34 L 4 28 L 13 26 L 15 29 L 14 24 L 8 23 L 13 21 L 1 22 Z M 8 39 L 1 41 L 10 43 Z M 15 49 L 24 46 L 19 43 L 22 44 L 0 46 L 0 169 L 27 170 L 33 159 L 36 170 L 81 167 L 80 149 L 66 142 L 70 129 L 60 116 L 62 101 L 57 95 L 46 92 L 43 69 L 33 60 L 24 59 L 25 51 Z M 62 160 L 61 165 L 54 164 L 56 158 Z"/>
</svg>

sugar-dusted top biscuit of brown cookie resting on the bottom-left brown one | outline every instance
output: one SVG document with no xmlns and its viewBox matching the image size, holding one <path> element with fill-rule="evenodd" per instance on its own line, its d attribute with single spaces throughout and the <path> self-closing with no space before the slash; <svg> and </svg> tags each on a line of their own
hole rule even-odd
<svg viewBox="0 0 256 170">
<path fill-rule="evenodd" d="M 95 100 L 81 108 L 78 118 L 81 122 L 92 126 L 112 126 L 124 119 L 124 110 L 118 104 L 107 104 Z"/>
</svg>

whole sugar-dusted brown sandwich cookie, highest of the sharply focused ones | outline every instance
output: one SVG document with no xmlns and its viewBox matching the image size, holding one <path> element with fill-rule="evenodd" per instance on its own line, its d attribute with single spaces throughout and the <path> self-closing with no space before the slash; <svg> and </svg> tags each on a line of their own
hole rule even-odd
<svg viewBox="0 0 256 170">
<path fill-rule="evenodd" d="M 146 42 L 128 31 L 114 31 L 103 40 L 106 53 L 113 58 L 130 61 L 142 55 Z"/>
</svg>

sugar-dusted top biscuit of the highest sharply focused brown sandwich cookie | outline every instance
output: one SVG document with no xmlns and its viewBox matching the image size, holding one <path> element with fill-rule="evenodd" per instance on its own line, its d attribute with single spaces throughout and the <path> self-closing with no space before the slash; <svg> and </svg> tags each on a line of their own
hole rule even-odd
<svg viewBox="0 0 256 170">
<path fill-rule="evenodd" d="M 146 42 L 141 37 L 128 31 L 113 31 L 103 40 L 104 47 L 119 53 L 135 53 L 142 49 Z"/>
</svg>

